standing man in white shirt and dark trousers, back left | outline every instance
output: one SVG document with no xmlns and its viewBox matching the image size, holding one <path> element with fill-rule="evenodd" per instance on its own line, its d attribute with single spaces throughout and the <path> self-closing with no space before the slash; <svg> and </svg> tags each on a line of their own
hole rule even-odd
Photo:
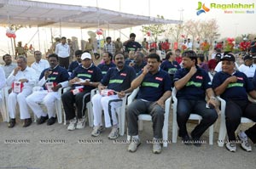
<svg viewBox="0 0 256 169">
<path fill-rule="evenodd" d="M 56 45 L 55 54 L 59 57 L 60 66 L 68 69 L 70 48 L 67 44 L 66 37 L 61 37 L 61 43 Z"/>
</svg>

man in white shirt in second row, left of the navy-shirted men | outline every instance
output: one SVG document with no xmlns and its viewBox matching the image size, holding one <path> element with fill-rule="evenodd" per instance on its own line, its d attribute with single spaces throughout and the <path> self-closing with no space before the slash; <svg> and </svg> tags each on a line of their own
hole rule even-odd
<svg viewBox="0 0 256 169">
<path fill-rule="evenodd" d="M 39 79 L 43 70 L 49 68 L 49 62 L 46 59 L 42 59 L 42 53 L 40 51 L 34 52 L 35 62 L 31 67 L 36 71 L 37 79 Z"/>
</svg>

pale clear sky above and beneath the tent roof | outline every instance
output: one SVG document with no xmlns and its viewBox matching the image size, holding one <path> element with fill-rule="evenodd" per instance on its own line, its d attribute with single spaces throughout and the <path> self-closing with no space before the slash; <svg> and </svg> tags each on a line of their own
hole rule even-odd
<svg viewBox="0 0 256 169">
<path fill-rule="evenodd" d="M 121 11 L 124 13 L 130 14 L 141 14 L 141 15 L 150 15 L 156 17 L 157 14 L 163 15 L 166 19 L 170 20 L 211 20 L 215 19 L 218 23 L 218 32 L 221 37 L 236 37 L 241 36 L 241 34 L 253 33 L 256 34 L 256 0 L 37 0 L 41 2 L 48 3 L 64 3 L 64 4 L 73 4 L 81 6 L 92 6 L 99 8 L 107 8 L 110 10 Z M 210 8 L 209 12 L 205 14 L 196 15 L 198 2 L 205 3 L 207 8 Z M 230 4 L 230 3 L 241 3 L 241 4 L 254 4 L 254 8 L 244 9 L 244 8 L 232 8 L 226 9 L 226 11 L 231 11 L 233 14 L 224 14 L 224 9 L 211 8 L 211 3 L 218 4 Z M 235 11 L 246 12 L 247 10 L 252 11 L 253 14 L 234 14 Z M 183 12 L 181 12 L 183 11 Z M 129 36 L 129 31 L 135 31 L 137 33 L 138 39 L 143 38 L 143 33 L 137 28 L 126 29 L 126 36 Z M 55 28 L 55 36 L 58 35 L 59 29 Z M 95 31 L 95 30 L 91 30 Z M 0 32 L 4 32 L 5 28 L 0 28 Z M 32 38 L 32 35 L 37 32 L 37 29 L 29 30 L 29 35 L 26 34 L 27 30 L 20 30 L 16 32 L 17 41 L 23 41 L 24 43 L 30 42 L 36 48 L 38 48 L 38 35 Z M 73 35 L 68 35 L 70 31 L 63 29 L 62 35 L 66 37 L 81 37 L 81 31 L 72 31 Z M 2 34 L 2 33 L 1 33 Z M 2 34 L 3 35 L 3 34 Z M 41 48 L 49 48 L 49 29 L 40 28 L 40 39 Z M 86 30 L 83 31 L 83 39 L 87 39 L 88 36 Z M 118 32 L 112 32 L 109 36 L 113 39 L 119 37 Z M 125 41 L 126 37 L 122 36 L 121 40 Z M 0 54 L 3 54 L 3 51 L 8 51 L 8 42 L 10 47 L 9 38 L 3 36 L 3 41 L 0 41 Z M 42 44 L 44 43 L 44 44 Z M 43 51 L 43 50 L 42 50 Z"/>
</svg>

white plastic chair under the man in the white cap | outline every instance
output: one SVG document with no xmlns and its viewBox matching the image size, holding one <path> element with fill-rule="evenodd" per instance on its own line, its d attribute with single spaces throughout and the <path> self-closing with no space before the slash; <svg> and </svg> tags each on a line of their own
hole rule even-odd
<svg viewBox="0 0 256 169">
<path fill-rule="evenodd" d="M 63 93 L 66 93 L 70 89 L 71 89 L 71 87 L 65 87 L 63 89 Z M 92 89 L 90 91 L 90 100 L 92 99 L 92 96 L 94 96 L 95 94 L 96 94 L 96 88 Z M 61 106 L 61 104 L 60 104 L 60 106 Z M 93 114 L 92 114 L 92 104 L 91 104 L 91 101 L 86 104 L 86 108 L 87 108 L 87 115 L 88 115 L 89 126 L 93 127 Z M 66 121 L 66 114 L 65 114 L 64 111 L 63 111 L 63 117 L 64 117 L 64 125 L 66 125 L 67 121 Z"/>
</svg>

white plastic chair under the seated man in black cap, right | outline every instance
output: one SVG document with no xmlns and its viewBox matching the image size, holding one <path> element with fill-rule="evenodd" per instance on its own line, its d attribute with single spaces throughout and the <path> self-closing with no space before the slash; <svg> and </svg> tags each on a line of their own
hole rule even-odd
<svg viewBox="0 0 256 169">
<path fill-rule="evenodd" d="M 225 109 L 226 109 L 226 101 L 224 99 L 221 99 L 219 96 L 217 99 L 220 101 L 220 127 L 218 132 L 218 147 L 223 147 L 225 143 L 225 138 L 227 134 L 227 128 L 226 128 L 226 121 L 225 121 Z M 249 97 L 249 100 L 253 103 L 256 103 L 256 100 Z M 252 120 L 248 119 L 247 117 L 241 117 L 241 123 L 251 123 Z"/>
</svg>

